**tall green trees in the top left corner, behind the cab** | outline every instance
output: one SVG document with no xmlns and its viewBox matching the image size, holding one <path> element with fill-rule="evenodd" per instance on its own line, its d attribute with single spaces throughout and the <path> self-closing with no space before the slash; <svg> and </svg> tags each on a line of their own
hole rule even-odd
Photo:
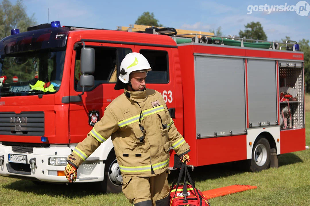
<svg viewBox="0 0 310 206">
<path fill-rule="evenodd" d="M 15 5 L 3 0 L 0 3 L 0 39 L 11 35 L 11 29 L 18 28 L 20 32 L 27 31 L 27 27 L 36 24 L 34 14 L 29 17 L 22 0 L 17 0 Z"/>
</svg>

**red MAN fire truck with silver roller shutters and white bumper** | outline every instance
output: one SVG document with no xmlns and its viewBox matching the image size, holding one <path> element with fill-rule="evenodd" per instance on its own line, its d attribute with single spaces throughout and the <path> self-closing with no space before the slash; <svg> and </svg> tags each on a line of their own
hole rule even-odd
<svg viewBox="0 0 310 206">
<path fill-rule="evenodd" d="M 192 167 L 240 160 L 252 171 L 277 167 L 278 155 L 305 149 L 303 53 L 296 42 L 278 46 L 174 28 L 52 22 L 13 30 L 0 42 L 0 175 L 66 183 L 66 158 L 123 92 L 113 88 L 131 52 L 148 59 L 147 87 L 161 92 Z M 120 191 L 121 180 L 110 139 L 78 168 L 77 183 L 104 191 Z"/>
</svg>

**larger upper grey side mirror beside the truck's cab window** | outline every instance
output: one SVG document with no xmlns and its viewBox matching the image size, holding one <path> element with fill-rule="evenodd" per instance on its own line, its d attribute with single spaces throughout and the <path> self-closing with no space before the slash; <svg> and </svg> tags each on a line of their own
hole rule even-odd
<svg viewBox="0 0 310 206">
<path fill-rule="evenodd" d="M 81 72 L 82 74 L 93 74 L 95 72 L 94 48 L 83 47 L 81 49 Z"/>
</svg>

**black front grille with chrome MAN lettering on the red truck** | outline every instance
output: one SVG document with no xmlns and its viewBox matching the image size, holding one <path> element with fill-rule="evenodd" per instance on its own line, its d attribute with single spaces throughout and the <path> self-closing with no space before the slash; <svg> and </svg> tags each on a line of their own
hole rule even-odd
<svg viewBox="0 0 310 206">
<path fill-rule="evenodd" d="M 44 136 L 44 112 L 0 112 L 0 135 Z"/>
</svg>

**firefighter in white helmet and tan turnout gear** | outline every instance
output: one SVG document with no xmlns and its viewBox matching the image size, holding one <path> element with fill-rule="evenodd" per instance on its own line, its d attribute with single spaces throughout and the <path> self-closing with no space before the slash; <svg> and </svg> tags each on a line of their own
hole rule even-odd
<svg viewBox="0 0 310 206">
<path fill-rule="evenodd" d="M 140 53 L 129 53 L 114 87 L 124 93 L 105 108 L 104 116 L 68 156 L 65 175 L 71 183 L 77 169 L 98 146 L 112 138 L 122 174 L 122 191 L 135 206 L 167 206 L 170 146 L 189 162 L 189 145 L 175 128 L 162 95 L 145 88 L 151 67 Z M 72 179 L 71 179 L 72 176 Z"/>
</svg>

